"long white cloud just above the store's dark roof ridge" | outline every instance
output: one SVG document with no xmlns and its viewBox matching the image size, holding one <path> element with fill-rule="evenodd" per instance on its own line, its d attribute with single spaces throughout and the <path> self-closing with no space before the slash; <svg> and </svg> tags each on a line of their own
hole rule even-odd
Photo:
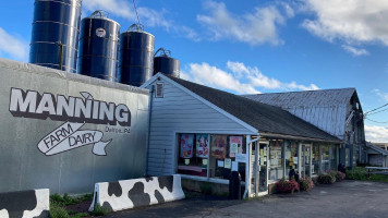
<svg viewBox="0 0 388 218">
<path fill-rule="evenodd" d="M 259 88 L 277 90 L 310 90 L 318 89 L 314 84 L 308 86 L 295 82 L 282 83 L 264 75 L 256 66 L 246 66 L 242 62 L 227 62 L 227 70 L 221 70 L 206 62 L 190 63 L 187 70 L 181 73 L 183 80 L 193 81 L 219 89 L 238 94 L 258 94 Z"/>
</svg>

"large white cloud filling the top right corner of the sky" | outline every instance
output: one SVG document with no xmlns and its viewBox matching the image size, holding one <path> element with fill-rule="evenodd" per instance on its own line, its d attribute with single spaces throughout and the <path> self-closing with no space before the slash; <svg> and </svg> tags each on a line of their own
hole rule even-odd
<svg viewBox="0 0 388 218">
<path fill-rule="evenodd" d="M 386 0 L 304 0 L 314 20 L 302 24 L 312 34 L 332 41 L 380 41 L 388 46 L 388 1 Z"/>
</svg>

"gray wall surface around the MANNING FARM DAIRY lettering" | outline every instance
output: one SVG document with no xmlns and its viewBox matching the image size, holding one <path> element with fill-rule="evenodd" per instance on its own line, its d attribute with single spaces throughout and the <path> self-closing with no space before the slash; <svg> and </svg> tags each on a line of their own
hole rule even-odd
<svg viewBox="0 0 388 218">
<path fill-rule="evenodd" d="M 0 59 L 0 192 L 50 189 L 50 193 L 90 193 L 96 182 L 140 178 L 145 174 L 148 90 L 54 69 Z M 65 121 L 14 117 L 9 111 L 11 87 L 81 97 L 88 92 L 94 99 L 126 105 L 131 111 L 129 126 L 86 121 L 81 131 L 100 131 L 107 156 L 92 153 L 94 144 L 52 156 L 37 147 L 39 141 Z M 66 119 L 66 118 L 65 118 Z"/>
</svg>

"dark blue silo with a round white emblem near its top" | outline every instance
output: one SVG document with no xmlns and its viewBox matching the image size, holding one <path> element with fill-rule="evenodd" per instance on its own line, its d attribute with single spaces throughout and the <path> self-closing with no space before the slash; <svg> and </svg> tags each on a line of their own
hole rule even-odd
<svg viewBox="0 0 388 218">
<path fill-rule="evenodd" d="M 119 36 L 119 23 L 107 19 L 102 11 L 83 19 L 76 72 L 117 82 Z"/>
</svg>

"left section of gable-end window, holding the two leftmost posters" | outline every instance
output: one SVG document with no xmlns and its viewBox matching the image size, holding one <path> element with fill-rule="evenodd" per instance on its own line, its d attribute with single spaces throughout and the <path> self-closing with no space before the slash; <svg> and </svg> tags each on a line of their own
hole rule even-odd
<svg viewBox="0 0 388 218">
<path fill-rule="evenodd" d="M 207 177 L 208 134 L 179 135 L 178 173 Z"/>
</svg>

